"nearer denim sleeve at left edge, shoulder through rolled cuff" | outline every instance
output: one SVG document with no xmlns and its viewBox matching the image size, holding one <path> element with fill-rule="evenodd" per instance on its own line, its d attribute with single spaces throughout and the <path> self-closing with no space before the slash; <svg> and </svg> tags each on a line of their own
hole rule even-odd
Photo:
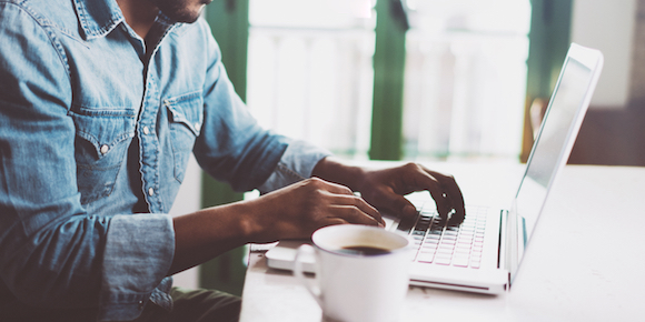
<svg viewBox="0 0 645 322">
<path fill-rule="evenodd" d="M 170 266 L 172 221 L 83 209 L 70 67 L 34 14 L 0 3 L 0 288 L 34 306 L 133 319 Z"/>
</svg>

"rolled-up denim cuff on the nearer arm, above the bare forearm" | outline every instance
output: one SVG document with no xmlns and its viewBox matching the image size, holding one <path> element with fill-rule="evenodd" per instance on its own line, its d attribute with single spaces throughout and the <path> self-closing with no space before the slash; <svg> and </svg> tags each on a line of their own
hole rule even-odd
<svg viewBox="0 0 645 322">
<path fill-rule="evenodd" d="M 133 320 L 152 293 L 160 296 L 158 286 L 175 254 L 172 220 L 166 214 L 117 215 L 105 252 L 99 320 Z"/>
</svg>

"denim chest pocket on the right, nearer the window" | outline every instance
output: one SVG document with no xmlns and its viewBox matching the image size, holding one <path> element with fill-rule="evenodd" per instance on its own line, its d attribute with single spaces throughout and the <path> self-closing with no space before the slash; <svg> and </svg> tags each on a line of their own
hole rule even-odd
<svg viewBox="0 0 645 322">
<path fill-rule="evenodd" d="M 168 109 L 169 115 L 175 179 L 182 182 L 195 140 L 201 131 L 204 98 L 201 91 L 196 91 L 166 99 L 163 105 Z"/>
</svg>

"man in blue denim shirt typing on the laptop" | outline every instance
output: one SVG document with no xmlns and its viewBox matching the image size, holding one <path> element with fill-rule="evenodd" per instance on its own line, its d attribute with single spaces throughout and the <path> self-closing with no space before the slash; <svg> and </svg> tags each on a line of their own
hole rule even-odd
<svg viewBox="0 0 645 322">
<path fill-rule="evenodd" d="M 207 2 L 0 0 L 0 320 L 235 321 L 238 299 L 168 276 L 248 242 L 379 225 L 377 209 L 411 215 L 413 191 L 463 218 L 449 175 L 347 165 L 258 127 Z M 169 217 L 189 153 L 265 194 Z"/>
</svg>

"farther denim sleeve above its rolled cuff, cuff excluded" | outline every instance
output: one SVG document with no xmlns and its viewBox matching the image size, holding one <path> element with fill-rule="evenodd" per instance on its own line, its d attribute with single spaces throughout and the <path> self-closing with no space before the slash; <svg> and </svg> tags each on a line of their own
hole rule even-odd
<svg viewBox="0 0 645 322">
<path fill-rule="evenodd" d="M 262 129 L 236 93 L 221 62 L 221 51 L 204 28 L 208 54 L 204 88 L 204 124 L 194 147 L 200 167 L 236 191 L 257 188 L 269 177 L 289 139 Z"/>
</svg>

